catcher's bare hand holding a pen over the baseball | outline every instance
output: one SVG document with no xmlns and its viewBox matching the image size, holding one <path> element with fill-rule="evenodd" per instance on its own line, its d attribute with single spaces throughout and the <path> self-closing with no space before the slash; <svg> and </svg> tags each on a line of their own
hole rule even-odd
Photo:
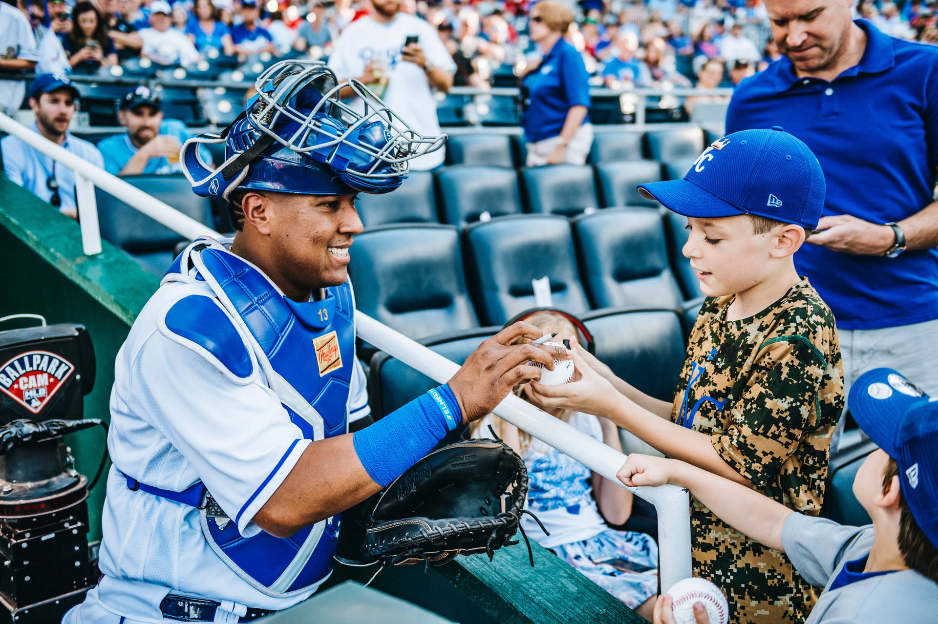
<svg viewBox="0 0 938 624">
<path fill-rule="evenodd" d="M 516 384 L 540 379 L 540 368 L 528 364 L 529 361 L 553 370 L 554 359 L 568 359 L 568 351 L 563 347 L 512 344 L 522 336 L 536 340 L 542 334 L 534 325 L 519 321 L 493 335 L 466 358 L 465 364 L 448 381 L 449 389 L 460 403 L 463 423 L 488 414 Z"/>
</svg>

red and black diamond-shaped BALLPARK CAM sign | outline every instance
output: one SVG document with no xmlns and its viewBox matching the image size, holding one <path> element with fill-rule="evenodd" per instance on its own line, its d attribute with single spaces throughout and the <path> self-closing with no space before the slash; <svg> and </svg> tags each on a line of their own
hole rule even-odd
<svg viewBox="0 0 938 624">
<path fill-rule="evenodd" d="M 0 365 L 0 391 L 38 414 L 74 371 L 75 366 L 59 355 L 27 351 Z"/>
</svg>

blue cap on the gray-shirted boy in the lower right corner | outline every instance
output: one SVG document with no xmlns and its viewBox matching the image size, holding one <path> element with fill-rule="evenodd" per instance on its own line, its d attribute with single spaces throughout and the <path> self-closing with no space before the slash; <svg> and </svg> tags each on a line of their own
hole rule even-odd
<svg viewBox="0 0 938 624">
<path fill-rule="evenodd" d="M 874 368 L 856 379 L 848 404 L 864 433 L 896 460 L 902 498 L 938 547 L 938 397 L 891 368 Z"/>
</svg>

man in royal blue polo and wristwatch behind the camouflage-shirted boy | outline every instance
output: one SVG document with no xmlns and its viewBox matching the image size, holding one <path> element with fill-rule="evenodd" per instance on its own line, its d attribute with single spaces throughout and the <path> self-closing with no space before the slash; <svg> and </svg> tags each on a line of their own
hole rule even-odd
<svg viewBox="0 0 938 624">
<path fill-rule="evenodd" d="M 888 366 L 936 394 L 938 48 L 852 21 L 848 0 L 765 7 L 785 56 L 736 88 L 726 131 L 783 126 L 821 163 L 824 216 L 795 264 L 837 319 L 847 388 Z"/>
</svg>

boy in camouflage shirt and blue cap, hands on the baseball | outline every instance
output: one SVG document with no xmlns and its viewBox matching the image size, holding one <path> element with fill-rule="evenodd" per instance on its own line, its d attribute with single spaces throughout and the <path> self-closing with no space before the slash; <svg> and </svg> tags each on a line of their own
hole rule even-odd
<svg viewBox="0 0 938 624">
<path fill-rule="evenodd" d="M 817 159 L 780 128 L 746 130 L 714 141 L 683 180 L 639 190 L 688 216 L 684 255 L 708 295 L 673 403 L 641 393 L 582 349 L 574 351 L 582 379 L 533 384 L 537 400 L 605 416 L 669 457 L 817 515 L 844 405 L 834 318 L 794 270 L 824 205 Z M 791 561 L 697 499 L 691 540 L 694 573 L 726 592 L 732 623 L 808 617 L 816 592 Z"/>
</svg>

